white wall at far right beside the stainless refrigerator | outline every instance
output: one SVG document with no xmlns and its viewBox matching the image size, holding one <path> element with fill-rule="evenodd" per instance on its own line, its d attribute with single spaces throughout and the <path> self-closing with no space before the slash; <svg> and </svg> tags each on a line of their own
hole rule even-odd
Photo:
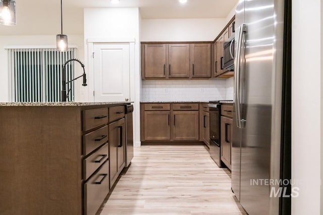
<svg viewBox="0 0 323 215">
<path fill-rule="evenodd" d="M 293 215 L 323 212 L 321 4 L 320 0 L 292 4 L 292 179 L 299 181 L 295 186 L 300 189 L 299 196 L 292 198 Z"/>
</svg>

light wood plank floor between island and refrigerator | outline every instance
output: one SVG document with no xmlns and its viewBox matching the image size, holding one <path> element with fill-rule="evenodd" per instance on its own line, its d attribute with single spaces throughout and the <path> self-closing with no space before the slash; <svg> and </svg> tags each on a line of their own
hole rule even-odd
<svg viewBox="0 0 323 215">
<path fill-rule="evenodd" d="M 142 146 L 100 214 L 246 213 L 204 146 Z"/>
</svg>

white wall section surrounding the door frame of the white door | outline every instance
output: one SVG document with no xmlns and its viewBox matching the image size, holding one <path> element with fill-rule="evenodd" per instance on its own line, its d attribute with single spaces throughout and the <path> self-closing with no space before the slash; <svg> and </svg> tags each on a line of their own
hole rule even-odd
<svg viewBox="0 0 323 215">
<path fill-rule="evenodd" d="M 130 74 L 131 98 L 134 102 L 134 138 L 135 146 L 140 146 L 140 14 L 138 8 L 87 8 L 84 9 L 84 56 L 88 62 L 88 39 L 100 38 L 101 41 L 120 42 L 128 38 L 135 39 L 135 68 Z M 87 64 L 85 64 L 87 65 Z M 93 75 L 89 74 L 88 100 L 93 101 Z"/>
</svg>

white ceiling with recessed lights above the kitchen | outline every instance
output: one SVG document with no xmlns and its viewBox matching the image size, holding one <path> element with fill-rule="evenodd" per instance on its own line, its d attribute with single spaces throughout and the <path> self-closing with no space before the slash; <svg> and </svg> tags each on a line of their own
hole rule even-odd
<svg viewBox="0 0 323 215">
<path fill-rule="evenodd" d="M 138 7 L 142 19 L 226 18 L 238 0 L 63 0 L 63 33 L 83 34 L 84 8 Z M 17 25 L 0 26 L 0 35 L 60 32 L 60 0 L 16 0 Z"/>
</svg>

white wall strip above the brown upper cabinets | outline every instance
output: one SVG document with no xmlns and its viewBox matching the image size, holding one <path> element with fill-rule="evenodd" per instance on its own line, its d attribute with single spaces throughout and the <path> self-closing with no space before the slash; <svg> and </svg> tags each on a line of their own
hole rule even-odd
<svg viewBox="0 0 323 215">
<path fill-rule="evenodd" d="M 142 19 L 141 41 L 213 41 L 226 19 Z"/>
</svg>

